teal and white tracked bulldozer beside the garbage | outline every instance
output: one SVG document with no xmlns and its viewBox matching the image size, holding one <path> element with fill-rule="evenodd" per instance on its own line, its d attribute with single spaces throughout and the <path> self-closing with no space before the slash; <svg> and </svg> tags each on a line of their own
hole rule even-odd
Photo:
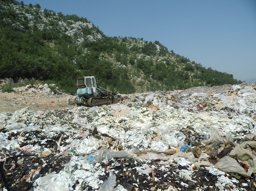
<svg viewBox="0 0 256 191">
<path fill-rule="evenodd" d="M 84 76 L 77 79 L 75 103 L 79 106 L 94 107 L 118 103 L 118 95 L 97 86 L 97 78 Z"/>
</svg>

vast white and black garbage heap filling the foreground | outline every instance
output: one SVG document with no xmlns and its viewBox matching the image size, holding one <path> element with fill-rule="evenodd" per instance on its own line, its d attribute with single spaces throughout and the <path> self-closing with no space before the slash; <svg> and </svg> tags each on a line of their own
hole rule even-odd
<svg viewBox="0 0 256 191">
<path fill-rule="evenodd" d="M 11 190 L 255 190 L 256 84 L 0 113 Z"/>
</svg>

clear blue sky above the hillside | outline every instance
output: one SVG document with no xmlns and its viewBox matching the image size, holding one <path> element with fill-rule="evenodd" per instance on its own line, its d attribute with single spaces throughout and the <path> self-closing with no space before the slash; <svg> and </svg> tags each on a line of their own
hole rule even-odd
<svg viewBox="0 0 256 191">
<path fill-rule="evenodd" d="M 110 37 L 158 40 L 168 50 L 236 79 L 256 78 L 256 0 L 23 2 L 87 18 Z"/>
</svg>

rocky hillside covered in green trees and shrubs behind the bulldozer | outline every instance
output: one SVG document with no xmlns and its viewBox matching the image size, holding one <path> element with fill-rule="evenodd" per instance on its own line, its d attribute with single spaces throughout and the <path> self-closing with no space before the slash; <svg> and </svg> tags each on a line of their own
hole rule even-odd
<svg viewBox="0 0 256 191">
<path fill-rule="evenodd" d="M 120 93 L 241 83 L 158 41 L 107 37 L 86 18 L 0 1 L 0 78 L 51 81 L 73 94 L 76 78 L 92 75 Z"/>
</svg>

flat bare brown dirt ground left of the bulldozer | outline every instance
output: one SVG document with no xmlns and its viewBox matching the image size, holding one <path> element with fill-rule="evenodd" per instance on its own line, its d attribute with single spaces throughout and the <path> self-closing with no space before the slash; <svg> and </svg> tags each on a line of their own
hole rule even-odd
<svg viewBox="0 0 256 191">
<path fill-rule="evenodd" d="M 0 92 L 0 112 L 15 112 L 25 107 L 29 107 L 34 112 L 76 107 L 68 104 L 68 100 L 73 100 L 73 98 L 74 96 L 68 94 L 48 95 L 38 92 L 22 92 L 22 94 Z"/>
</svg>

